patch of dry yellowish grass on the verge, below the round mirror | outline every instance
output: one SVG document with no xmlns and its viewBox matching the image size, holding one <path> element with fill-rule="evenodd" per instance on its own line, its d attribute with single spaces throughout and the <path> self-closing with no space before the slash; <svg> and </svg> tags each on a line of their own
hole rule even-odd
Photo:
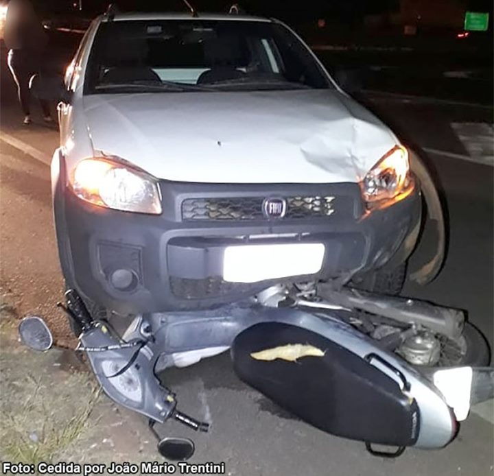
<svg viewBox="0 0 494 476">
<path fill-rule="evenodd" d="M 0 459 L 53 462 L 95 424 L 90 416 L 101 392 L 86 372 L 49 372 L 59 365 L 54 354 L 20 346 L 15 309 L 1 305 Z"/>
</svg>

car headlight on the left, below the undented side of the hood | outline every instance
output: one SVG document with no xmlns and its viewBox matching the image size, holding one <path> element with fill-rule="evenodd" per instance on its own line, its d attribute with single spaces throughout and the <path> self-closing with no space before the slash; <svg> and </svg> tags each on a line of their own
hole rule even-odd
<svg viewBox="0 0 494 476">
<path fill-rule="evenodd" d="M 87 158 L 75 166 L 72 189 L 79 198 L 109 209 L 161 213 L 156 179 L 145 172 L 104 158 Z"/>
</svg>

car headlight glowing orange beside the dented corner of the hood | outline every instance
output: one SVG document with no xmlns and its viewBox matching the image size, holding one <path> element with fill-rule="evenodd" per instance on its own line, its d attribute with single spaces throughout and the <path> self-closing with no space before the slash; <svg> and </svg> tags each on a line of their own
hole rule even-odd
<svg viewBox="0 0 494 476">
<path fill-rule="evenodd" d="M 403 192 L 410 189 L 410 163 L 405 147 L 393 147 L 366 174 L 360 186 L 364 200 L 370 206 L 377 202 L 398 200 Z"/>
</svg>

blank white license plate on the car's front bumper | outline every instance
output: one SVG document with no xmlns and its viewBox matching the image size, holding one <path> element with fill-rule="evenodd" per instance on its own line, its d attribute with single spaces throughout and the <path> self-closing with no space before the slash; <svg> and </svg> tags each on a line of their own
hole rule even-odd
<svg viewBox="0 0 494 476">
<path fill-rule="evenodd" d="M 256 283 L 314 274 L 320 271 L 324 254 L 322 243 L 228 246 L 224 250 L 223 279 Z"/>
</svg>

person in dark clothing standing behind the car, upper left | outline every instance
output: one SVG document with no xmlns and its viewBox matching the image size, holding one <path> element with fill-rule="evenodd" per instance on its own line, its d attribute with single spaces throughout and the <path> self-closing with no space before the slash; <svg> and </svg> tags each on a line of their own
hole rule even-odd
<svg viewBox="0 0 494 476">
<path fill-rule="evenodd" d="M 32 122 L 30 111 L 29 83 L 32 75 L 39 73 L 43 61 L 43 51 L 48 37 L 41 25 L 30 0 L 10 0 L 3 40 L 9 49 L 8 66 L 17 85 L 19 102 L 24 113 L 25 125 Z M 49 104 L 40 100 L 43 119 L 51 123 Z"/>
</svg>

